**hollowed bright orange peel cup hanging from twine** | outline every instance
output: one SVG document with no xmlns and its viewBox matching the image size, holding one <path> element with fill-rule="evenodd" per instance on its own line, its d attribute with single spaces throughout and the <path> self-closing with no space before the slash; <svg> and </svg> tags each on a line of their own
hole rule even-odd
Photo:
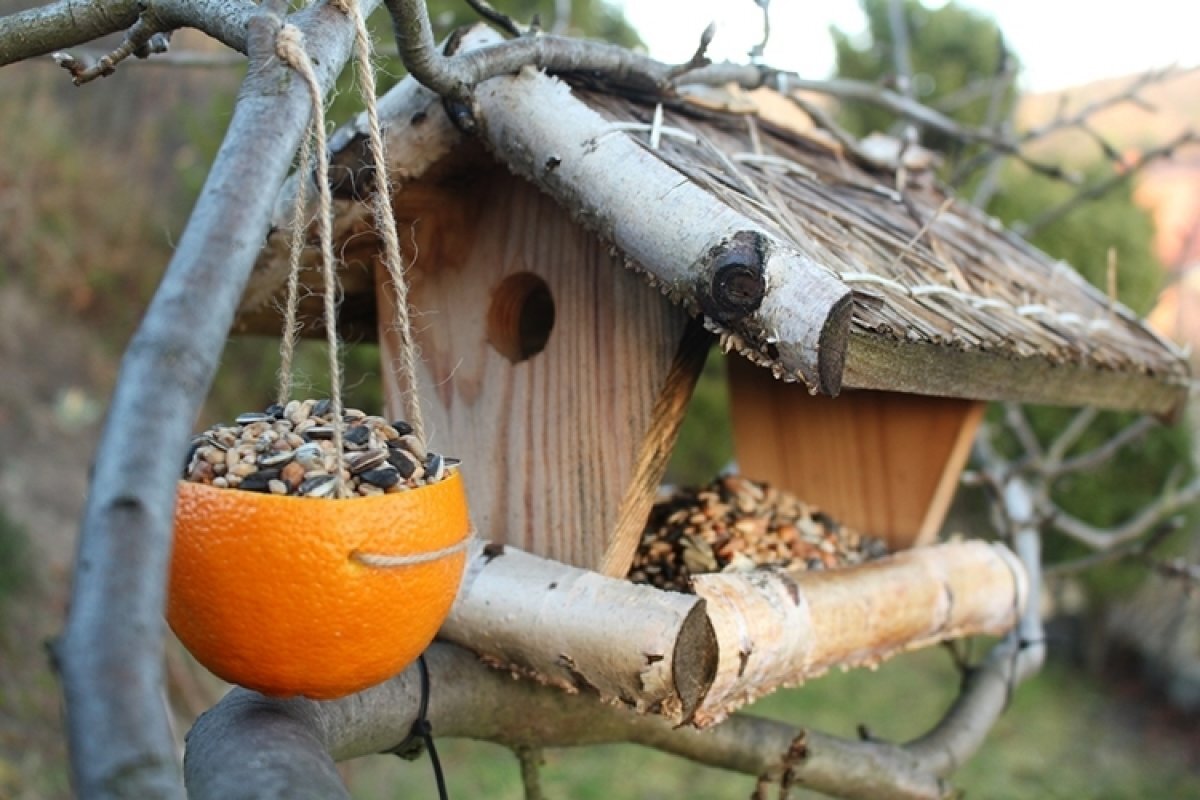
<svg viewBox="0 0 1200 800">
<path fill-rule="evenodd" d="M 458 591 L 469 528 L 457 471 L 340 500 L 180 481 L 167 621 L 229 682 L 275 696 L 350 694 L 428 646 Z"/>
</svg>

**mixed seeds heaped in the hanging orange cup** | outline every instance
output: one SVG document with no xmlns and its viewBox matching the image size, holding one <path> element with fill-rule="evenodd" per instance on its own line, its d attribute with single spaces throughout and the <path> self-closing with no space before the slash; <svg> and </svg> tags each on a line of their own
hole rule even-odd
<svg viewBox="0 0 1200 800">
<path fill-rule="evenodd" d="M 344 494 L 391 494 L 436 483 L 458 459 L 427 452 L 413 427 L 343 409 Z M 335 495 L 330 402 L 292 401 L 215 425 L 192 439 L 184 477 L 194 483 L 310 498 Z"/>
</svg>

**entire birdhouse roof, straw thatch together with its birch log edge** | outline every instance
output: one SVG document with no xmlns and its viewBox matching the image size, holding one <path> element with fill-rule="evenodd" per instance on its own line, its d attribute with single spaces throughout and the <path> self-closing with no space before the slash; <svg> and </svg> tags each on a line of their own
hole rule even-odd
<svg viewBox="0 0 1200 800">
<path fill-rule="evenodd" d="M 492 86 L 502 89 L 485 91 Z M 802 379 L 827 392 L 882 389 L 1159 414 L 1176 411 L 1186 397 L 1190 375 L 1181 355 L 1069 265 L 949 199 L 922 164 L 906 167 L 898 176 L 886 163 L 869 164 L 860 154 L 842 152 L 803 115 L 781 124 L 768 110 L 786 104 L 779 95 L 756 92 L 752 104 L 737 98 L 736 108 L 714 106 L 708 97 L 672 98 L 660 106 L 594 84 L 568 90 L 554 78 L 529 73 L 488 82 L 480 90 L 480 103 L 485 113 L 509 108 L 514 98 L 535 91 L 548 92 L 534 104 L 545 109 L 541 115 L 514 113 L 503 121 L 485 116 L 484 138 L 492 157 L 538 182 L 582 224 L 613 243 L 630 266 L 694 313 L 707 308 L 688 269 L 695 265 L 700 283 L 707 279 L 701 275 L 704 259 L 698 257 L 712 252 L 712 241 L 727 243 L 730 230 L 745 228 L 749 221 L 769 247 L 786 251 L 786 259 L 767 259 L 762 309 L 756 306 L 744 319 L 706 314 L 728 349 L 772 368 L 776 377 Z M 553 102 L 547 104 L 546 97 Z M 445 121 L 440 103 L 410 79 L 392 90 L 384 112 L 390 120 L 394 180 L 403 184 L 444 169 L 454 163 L 455 152 L 462 152 L 464 138 Z M 604 126 L 604 133 L 570 142 L 564 138 L 571 136 L 564 133 L 569 128 L 564 120 L 571 114 L 590 120 L 586 126 L 593 132 Z M 539 136 L 557 137 L 554 155 L 544 158 L 535 152 Z M 571 172 L 571 154 L 582 160 L 617 139 L 626 148 L 618 163 L 630 170 L 617 175 L 618 181 L 641 188 L 660 182 L 661 196 L 686 185 L 721 209 L 716 215 L 721 218 L 713 218 L 710 241 L 697 241 L 684 266 L 656 263 L 662 260 L 656 253 L 673 253 L 679 241 L 671 243 L 674 249 L 643 246 L 654 222 L 644 219 L 647 207 L 654 206 L 631 201 L 628 209 L 606 207 L 600 213 L 587 197 L 581 199 L 580 185 L 584 184 L 586 196 L 586 184 L 599 180 L 588 175 L 598 173 Z M 343 131 L 335 139 L 340 143 L 335 161 L 360 170 L 359 140 L 353 125 Z M 406 155 L 406 148 L 419 154 Z M 641 160 L 637 164 L 631 152 Z M 647 163 L 655 169 L 647 170 Z M 613 172 L 611 164 L 607 170 Z M 281 201 L 281 209 L 287 205 Z M 362 206 L 353 197 L 340 201 L 343 239 L 365 229 L 368 215 Z M 679 227 L 680 221 L 670 216 L 671 203 L 661 204 L 661 212 L 664 225 Z M 281 225 L 284 219 L 281 216 Z M 708 236 L 706 224 L 706 219 L 688 221 L 689 231 L 702 231 L 688 235 Z M 636 235 L 626 230 L 638 225 Z M 282 283 L 284 239 L 272 236 L 247 294 L 244 325 L 250 329 L 260 324 L 250 309 L 260 307 Z M 362 287 L 370 291 L 370 281 Z M 839 291 L 848 302 L 841 303 Z M 822 293 L 829 299 L 821 301 L 820 313 L 788 317 L 790 305 L 806 303 Z M 347 302 L 362 305 L 353 287 L 347 289 Z M 364 305 L 364 313 L 370 305 Z M 820 324 L 810 324 L 814 319 Z M 841 333 L 839 325 L 845 329 Z"/>
</svg>

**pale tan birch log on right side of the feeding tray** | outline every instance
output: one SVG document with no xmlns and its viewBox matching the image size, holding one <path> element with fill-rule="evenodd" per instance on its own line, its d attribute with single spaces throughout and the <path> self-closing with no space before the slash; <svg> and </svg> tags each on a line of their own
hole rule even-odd
<svg viewBox="0 0 1200 800">
<path fill-rule="evenodd" d="M 720 651 L 697 727 L 832 667 L 875 666 L 944 639 L 1003 633 L 1028 595 L 1016 557 L 980 541 L 829 572 L 704 575 L 695 589 L 708 601 Z"/>
</svg>

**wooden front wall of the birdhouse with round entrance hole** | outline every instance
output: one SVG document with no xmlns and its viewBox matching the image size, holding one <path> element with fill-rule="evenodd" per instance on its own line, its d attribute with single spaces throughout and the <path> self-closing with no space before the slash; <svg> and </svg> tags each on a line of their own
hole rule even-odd
<svg viewBox="0 0 1200 800">
<path fill-rule="evenodd" d="M 685 314 L 506 172 L 419 181 L 396 211 L 430 446 L 463 459 L 480 536 L 598 569 L 623 510 L 648 507 L 661 479 L 661 461 L 656 475 L 638 471 L 640 447 L 664 422 L 655 403 Z M 544 351 L 512 363 L 488 344 L 487 318 L 496 288 L 518 272 L 546 282 L 556 323 Z M 390 320 L 378 279 L 379 319 Z M 386 368 L 386 323 L 380 342 L 395 414 L 404 387 Z"/>
</svg>

